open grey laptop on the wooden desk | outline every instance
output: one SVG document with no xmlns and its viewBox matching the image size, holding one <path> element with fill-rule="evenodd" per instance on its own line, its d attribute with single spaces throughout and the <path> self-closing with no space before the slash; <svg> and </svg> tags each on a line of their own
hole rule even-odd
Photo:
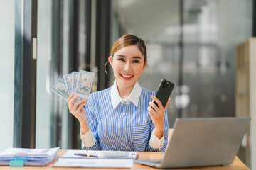
<svg viewBox="0 0 256 170">
<path fill-rule="evenodd" d="M 232 164 L 250 118 L 176 118 L 163 159 L 135 160 L 161 169 Z"/>
</svg>

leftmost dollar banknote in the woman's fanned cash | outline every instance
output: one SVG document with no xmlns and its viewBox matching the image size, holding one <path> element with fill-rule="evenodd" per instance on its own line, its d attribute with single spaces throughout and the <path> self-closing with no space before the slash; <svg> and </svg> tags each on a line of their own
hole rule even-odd
<svg viewBox="0 0 256 170">
<path fill-rule="evenodd" d="M 65 82 L 62 79 L 58 79 L 51 91 L 63 98 L 65 101 L 68 100 L 68 89 L 66 88 Z"/>
</svg>

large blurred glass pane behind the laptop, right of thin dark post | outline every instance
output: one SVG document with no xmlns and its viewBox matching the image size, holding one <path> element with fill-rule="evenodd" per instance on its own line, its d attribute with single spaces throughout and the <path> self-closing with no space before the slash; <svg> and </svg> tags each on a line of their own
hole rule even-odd
<svg viewBox="0 0 256 170">
<path fill-rule="evenodd" d="M 236 47 L 252 36 L 252 1 L 184 1 L 183 116 L 235 115 Z M 236 19 L 233 19 L 236 18 Z"/>
</svg>

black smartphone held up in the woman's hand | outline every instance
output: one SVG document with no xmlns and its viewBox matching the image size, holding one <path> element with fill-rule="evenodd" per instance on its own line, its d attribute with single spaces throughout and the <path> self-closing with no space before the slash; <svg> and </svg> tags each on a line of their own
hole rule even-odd
<svg viewBox="0 0 256 170">
<path fill-rule="evenodd" d="M 174 89 L 173 83 L 171 83 L 170 81 L 167 81 L 166 79 L 161 80 L 159 84 L 159 88 L 156 91 L 156 98 L 158 98 L 159 101 L 161 101 L 163 107 L 166 106 L 168 98 L 170 97 L 171 91 L 173 89 Z M 155 103 L 155 105 L 159 107 L 156 101 L 153 101 L 153 103 Z"/>
</svg>

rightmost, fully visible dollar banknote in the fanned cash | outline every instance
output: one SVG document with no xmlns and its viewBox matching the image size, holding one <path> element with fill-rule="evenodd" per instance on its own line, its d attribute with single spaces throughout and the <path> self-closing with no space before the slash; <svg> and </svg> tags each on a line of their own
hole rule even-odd
<svg viewBox="0 0 256 170">
<path fill-rule="evenodd" d="M 78 75 L 78 82 L 75 89 L 75 96 L 79 95 L 77 101 L 81 101 L 85 99 L 86 103 L 90 96 L 90 91 L 92 89 L 92 81 L 94 79 L 95 74 L 93 72 L 86 72 L 80 70 Z M 77 102 L 75 101 L 75 102 Z"/>
</svg>

